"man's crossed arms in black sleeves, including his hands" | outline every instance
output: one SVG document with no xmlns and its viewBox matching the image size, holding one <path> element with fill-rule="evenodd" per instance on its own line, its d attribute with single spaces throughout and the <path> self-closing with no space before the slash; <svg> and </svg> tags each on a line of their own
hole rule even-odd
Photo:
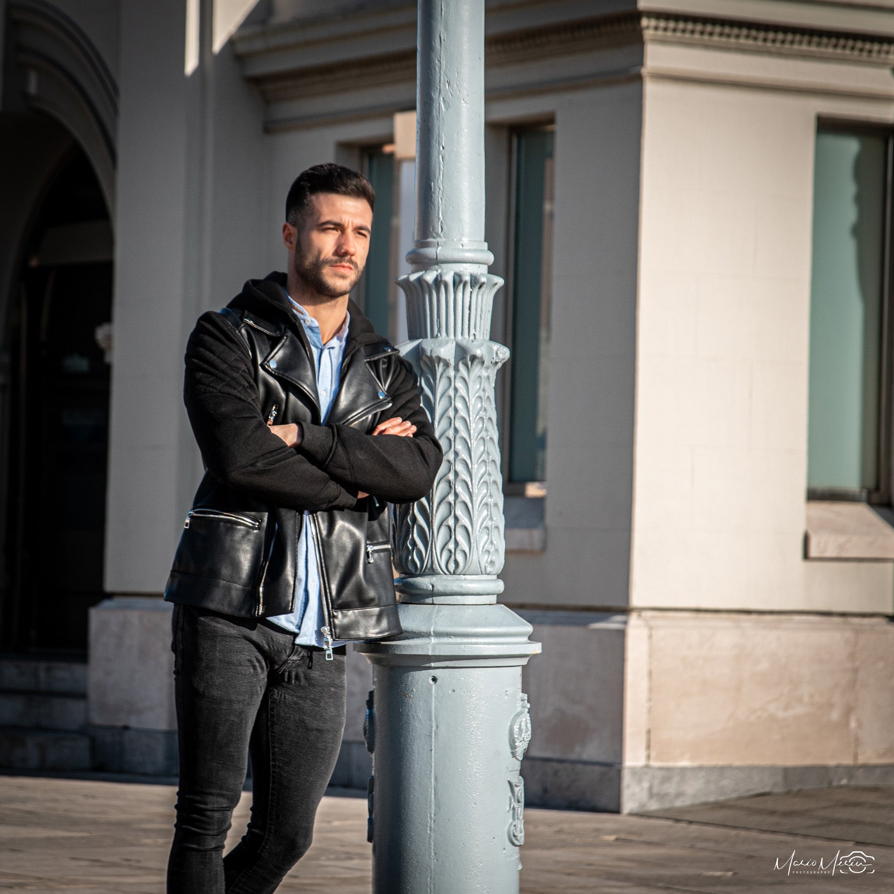
<svg viewBox="0 0 894 894">
<path fill-rule="evenodd" d="M 387 502 L 428 493 L 443 454 L 402 361 L 389 393 L 401 424 L 378 426 L 375 436 L 303 424 L 301 442 L 288 446 L 266 425 L 249 349 L 225 316 L 199 317 L 187 343 L 183 399 L 208 470 L 224 485 L 295 510 L 350 509 L 360 493 Z"/>
</svg>

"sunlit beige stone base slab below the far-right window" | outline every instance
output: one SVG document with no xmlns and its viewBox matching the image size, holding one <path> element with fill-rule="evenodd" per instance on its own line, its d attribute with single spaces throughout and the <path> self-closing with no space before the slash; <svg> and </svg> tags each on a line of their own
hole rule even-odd
<svg viewBox="0 0 894 894">
<path fill-rule="evenodd" d="M 625 679 L 625 766 L 894 763 L 886 618 L 640 611 Z"/>
</svg>

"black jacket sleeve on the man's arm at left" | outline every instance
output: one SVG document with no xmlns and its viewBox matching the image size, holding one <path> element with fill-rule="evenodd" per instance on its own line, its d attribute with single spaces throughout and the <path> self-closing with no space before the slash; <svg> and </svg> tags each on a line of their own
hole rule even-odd
<svg viewBox="0 0 894 894">
<path fill-rule="evenodd" d="M 223 314 L 199 317 L 186 347 L 183 401 L 198 448 L 218 481 L 295 510 L 357 502 L 325 469 L 266 426 L 248 346 Z"/>
</svg>

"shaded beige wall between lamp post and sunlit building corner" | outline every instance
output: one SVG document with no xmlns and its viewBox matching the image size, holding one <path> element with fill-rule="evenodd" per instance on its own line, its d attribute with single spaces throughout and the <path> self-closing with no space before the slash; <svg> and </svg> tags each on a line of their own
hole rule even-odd
<svg viewBox="0 0 894 894">
<path fill-rule="evenodd" d="M 547 534 L 545 552 L 507 555 L 503 598 L 616 607 L 629 590 L 641 88 L 545 101 L 556 115 Z"/>
</svg>

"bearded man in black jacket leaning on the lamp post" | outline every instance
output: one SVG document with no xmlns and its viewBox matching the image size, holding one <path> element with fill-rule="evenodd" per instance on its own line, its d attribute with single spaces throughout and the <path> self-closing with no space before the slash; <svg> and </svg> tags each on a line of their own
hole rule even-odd
<svg viewBox="0 0 894 894">
<path fill-rule="evenodd" d="M 286 274 L 199 317 L 184 400 L 207 473 L 165 598 L 180 744 L 169 894 L 265 894 L 310 846 L 345 644 L 401 632 L 389 502 L 442 460 L 409 365 L 349 299 L 374 193 L 337 164 L 286 199 Z M 248 831 L 223 857 L 251 754 Z"/>
</svg>

